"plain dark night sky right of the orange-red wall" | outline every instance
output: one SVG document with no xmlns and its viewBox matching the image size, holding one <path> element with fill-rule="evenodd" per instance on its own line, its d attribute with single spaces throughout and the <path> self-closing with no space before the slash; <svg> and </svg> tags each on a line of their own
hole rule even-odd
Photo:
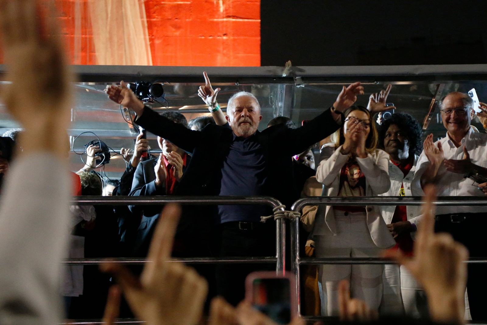
<svg viewBox="0 0 487 325">
<path fill-rule="evenodd" d="M 261 65 L 487 63 L 486 0 L 262 0 Z"/>
</svg>

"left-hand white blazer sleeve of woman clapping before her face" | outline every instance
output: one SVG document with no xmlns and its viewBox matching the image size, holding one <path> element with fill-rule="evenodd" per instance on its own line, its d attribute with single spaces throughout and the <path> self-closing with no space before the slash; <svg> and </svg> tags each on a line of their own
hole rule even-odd
<svg viewBox="0 0 487 325">
<path fill-rule="evenodd" d="M 330 184 L 340 175 L 340 170 L 348 159 L 347 154 L 340 153 L 341 146 L 335 150 L 335 147 L 325 146 L 319 154 L 319 166 L 316 169 L 316 180 L 321 184 L 330 186 Z"/>
</svg>

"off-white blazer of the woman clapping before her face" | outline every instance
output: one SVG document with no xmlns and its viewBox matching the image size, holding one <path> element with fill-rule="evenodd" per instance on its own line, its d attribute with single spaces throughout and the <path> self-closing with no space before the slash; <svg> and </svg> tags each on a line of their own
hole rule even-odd
<svg viewBox="0 0 487 325">
<path fill-rule="evenodd" d="M 336 196 L 339 190 L 339 175 L 341 168 L 346 163 L 348 155 L 340 153 L 341 146 L 335 150 L 333 143 L 326 144 L 321 148 L 319 166 L 316 172 L 318 182 L 326 186 L 327 196 Z M 360 170 L 366 179 L 366 196 L 376 196 L 389 190 L 391 181 L 388 173 L 389 155 L 382 150 L 375 150 L 375 153 L 367 154 L 366 158 L 356 158 Z M 335 214 L 331 206 L 326 206 L 323 216 L 323 209 L 318 211 L 315 219 L 313 236 L 324 235 L 324 227 L 336 235 L 337 227 Z M 393 236 L 387 229 L 386 223 L 380 214 L 378 206 L 367 206 L 367 225 L 375 245 L 379 248 L 389 248 L 395 245 Z"/>
</svg>

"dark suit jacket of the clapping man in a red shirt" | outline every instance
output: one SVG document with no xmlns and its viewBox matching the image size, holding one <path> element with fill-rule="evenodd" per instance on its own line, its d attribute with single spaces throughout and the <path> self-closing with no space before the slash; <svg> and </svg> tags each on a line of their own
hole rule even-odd
<svg viewBox="0 0 487 325">
<path fill-rule="evenodd" d="M 129 195 L 132 196 L 154 196 L 154 195 L 166 195 L 166 184 L 163 184 L 161 188 L 155 186 L 155 171 L 154 167 L 157 164 L 158 158 L 152 158 L 146 161 L 142 161 L 137 166 L 132 181 L 132 189 Z M 183 166 L 183 172 L 186 171 L 186 166 L 190 162 L 191 158 L 186 155 L 186 165 Z M 179 186 L 179 185 L 177 185 Z M 176 188 L 177 188 L 176 186 Z M 133 252 L 137 256 L 145 256 L 149 249 L 150 239 L 154 231 L 154 226 L 157 223 L 159 213 L 162 210 L 162 206 L 129 206 L 131 212 L 135 215 L 142 214 L 142 220 L 137 229 L 135 235 L 135 242 Z M 180 229 L 179 231 L 182 231 Z"/>
</svg>

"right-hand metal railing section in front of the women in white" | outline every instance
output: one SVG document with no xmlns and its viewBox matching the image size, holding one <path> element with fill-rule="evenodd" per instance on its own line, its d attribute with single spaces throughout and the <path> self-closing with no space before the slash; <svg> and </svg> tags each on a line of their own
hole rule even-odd
<svg viewBox="0 0 487 325">
<path fill-rule="evenodd" d="M 299 199 L 294 202 L 291 207 L 292 211 L 300 212 L 304 206 L 309 205 L 324 205 L 324 206 L 417 206 L 425 203 L 421 196 L 374 196 L 374 197 L 342 197 L 342 196 L 309 196 Z M 486 206 L 486 197 L 450 197 L 441 196 L 434 202 L 437 206 Z M 298 314 L 301 315 L 300 310 L 300 265 L 301 264 L 395 264 L 391 260 L 383 258 L 300 258 L 300 218 L 296 218 L 291 222 L 291 271 L 296 278 L 295 294 L 298 302 Z M 487 264 L 486 259 L 473 258 L 466 261 L 466 263 Z"/>
</svg>

